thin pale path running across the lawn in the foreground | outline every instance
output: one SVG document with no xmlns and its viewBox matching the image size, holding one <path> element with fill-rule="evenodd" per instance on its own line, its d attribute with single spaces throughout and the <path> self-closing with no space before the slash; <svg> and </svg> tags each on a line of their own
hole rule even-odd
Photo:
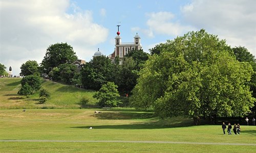
<svg viewBox="0 0 256 153">
<path fill-rule="evenodd" d="M 0 140 L 0 142 L 113 142 L 113 143 L 174 143 L 174 144 L 206 144 L 206 145 L 252 145 L 250 143 L 208 143 L 208 142 L 171 142 L 171 141 L 92 141 L 92 140 Z"/>
</svg>

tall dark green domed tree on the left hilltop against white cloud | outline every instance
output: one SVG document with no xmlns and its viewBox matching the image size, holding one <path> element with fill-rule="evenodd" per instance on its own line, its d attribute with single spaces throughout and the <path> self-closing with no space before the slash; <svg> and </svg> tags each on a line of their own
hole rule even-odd
<svg viewBox="0 0 256 153">
<path fill-rule="evenodd" d="M 73 47 L 67 43 L 56 43 L 50 45 L 46 50 L 46 55 L 41 63 L 43 72 L 49 73 L 54 67 L 60 64 L 71 64 L 77 60 Z"/>
</svg>

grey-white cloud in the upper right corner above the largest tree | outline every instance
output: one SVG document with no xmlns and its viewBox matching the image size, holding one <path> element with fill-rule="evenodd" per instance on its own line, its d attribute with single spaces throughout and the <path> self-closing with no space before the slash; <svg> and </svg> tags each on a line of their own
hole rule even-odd
<svg viewBox="0 0 256 153">
<path fill-rule="evenodd" d="M 245 46 L 256 55 L 256 1 L 200 1 L 183 6 L 184 19 L 197 29 L 226 39 L 227 44 Z"/>
</svg>

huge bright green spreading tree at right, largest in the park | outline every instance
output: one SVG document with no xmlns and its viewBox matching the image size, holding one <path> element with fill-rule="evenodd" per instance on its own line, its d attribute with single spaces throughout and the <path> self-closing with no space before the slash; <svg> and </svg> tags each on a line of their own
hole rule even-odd
<svg viewBox="0 0 256 153">
<path fill-rule="evenodd" d="M 232 56 L 225 40 L 205 30 L 168 40 L 140 71 L 133 105 L 152 107 L 161 118 L 243 116 L 254 98 L 247 83 L 253 73 L 247 62 Z"/>
</svg>

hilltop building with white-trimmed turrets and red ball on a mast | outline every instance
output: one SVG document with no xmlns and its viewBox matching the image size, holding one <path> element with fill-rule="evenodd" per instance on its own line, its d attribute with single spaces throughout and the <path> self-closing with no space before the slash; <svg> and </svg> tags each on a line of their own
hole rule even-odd
<svg viewBox="0 0 256 153">
<path fill-rule="evenodd" d="M 126 54 L 128 54 L 129 52 L 133 52 L 133 50 L 142 49 L 142 45 L 141 45 L 141 42 L 140 42 L 140 36 L 138 34 L 136 34 L 134 36 L 134 41 L 133 42 L 122 43 L 121 37 L 119 36 L 120 35 L 119 26 L 120 25 L 117 25 L 118 32 L 117 32 L 117 36 L 115 37 L 114 52 L 111 55 L 109 55 L 109 58 L 111 59 L 111 62 L 113 64 L 115 63 L 115 58 L 117 56 L 119 57 L 119 64 L 122 64 L 123 58 Z"/>
</svg>

